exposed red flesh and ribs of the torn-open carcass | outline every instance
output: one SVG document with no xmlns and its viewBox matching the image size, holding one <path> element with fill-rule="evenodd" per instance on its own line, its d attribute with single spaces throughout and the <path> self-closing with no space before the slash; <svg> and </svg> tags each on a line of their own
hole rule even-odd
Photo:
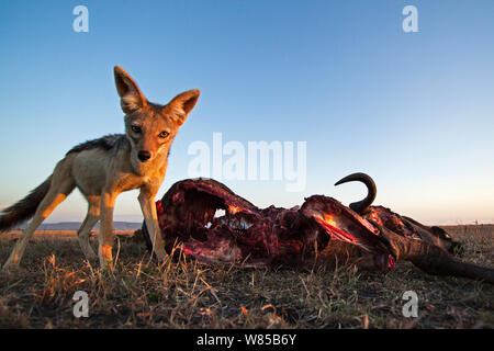
<svg viewBox="0 0 494 351">
<path fill-rule="evenodd" d="M 217 210 L 225 215 L 214 217 Z M 171 186 L 157 211 L 166 249 L 179 242 L 184 254 L 203 262 L 294 263 L 341 240 L 374 254 L 380 270 L 394 265 L 379 230 L 323 195 L 306 199 L 302 207 L 261 210 L 214 180 L 184 180 Z M 325 219 L 329 217 L 333 223 Z"/>
</svg>

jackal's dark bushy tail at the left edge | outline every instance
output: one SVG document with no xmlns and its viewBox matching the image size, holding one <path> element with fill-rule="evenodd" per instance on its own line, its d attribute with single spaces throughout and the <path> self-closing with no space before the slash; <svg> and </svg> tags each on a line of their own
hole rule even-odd
<svg viewBox="0 0 494 351">
<path fill-rule="evenodd" d="M 16 224 L 27 220 L 34 216 L 37 206 L 48 192 L 50 183 L 52 176 L 49 176 L 47 180 L 29 193 L 27 196 L 3 210 L 0 213 L 0 233 L 9 230 Z"/>
</svg>

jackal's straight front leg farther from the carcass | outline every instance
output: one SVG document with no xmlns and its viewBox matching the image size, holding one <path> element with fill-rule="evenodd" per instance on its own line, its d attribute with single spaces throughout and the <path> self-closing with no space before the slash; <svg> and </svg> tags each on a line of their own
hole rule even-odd
<svg viewBox="0 0 494 351">
<path fill-rule="evenodd" d="M 116 194 L 103 193 L 101 196 L 101 219 L 99 234 L 99 257 L 101 269 L 111 269 L 113 263 L 113 208 Z"/>
</svg>

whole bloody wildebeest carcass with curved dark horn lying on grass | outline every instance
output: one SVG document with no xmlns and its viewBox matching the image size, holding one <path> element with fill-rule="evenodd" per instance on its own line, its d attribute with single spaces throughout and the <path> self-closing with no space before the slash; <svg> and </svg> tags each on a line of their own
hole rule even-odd
<svg viewBox="0 0 494 351">
<path fill-rule="evenodd" d="M 445 230 L 370 206 L 375 197 L 370 177 L 355 173 L 337 184 L 348 181 L 363 182 L 368 196 L 347 207 L 333 197 L 313 195 L 292 208 L 258 208 L 212 179 L 179 181 L 157 202 L 166 250 L 242 267 L 351 262 L 389 271 L 396 261 L 408 260 L 430 274 L 494 283 L 494 270 L 449 252 L 458 244 Z M 150 250 L 145 224 L 143 233 Z"/>
</svg>

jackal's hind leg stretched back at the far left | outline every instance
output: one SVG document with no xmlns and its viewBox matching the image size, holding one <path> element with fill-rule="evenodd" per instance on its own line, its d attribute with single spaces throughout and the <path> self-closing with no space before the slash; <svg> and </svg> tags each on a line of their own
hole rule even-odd
<svg viewBox="0 0 494 351">
<path fill-rule="evenodd" d="M 33 220 L 31 220 L 27 228 L 21 234 L 21 237 L 15 242 L 15 246 L 7 260 L 3 269 L 7 270 L 11 267 L 18 267 L 22 256 L 24 253 L 25 247 L 30 241 L 31 237 L 34 234 L 34 230 L 45 220 L 46 217 L 58 206 L 70 192 L 76 186 L 74 180 L 71 178 L 66 178 L 65 180 L 58 180 L 57 178 L 61 178 L 61 174 L 57 177 L 54 173 L 54 178 L 52 180 L 52 185 L 48 190 L 48 193 L 45 195 L 43 201 L 36 208 L 36 213 L 34 214 Z"/>
</svg>

